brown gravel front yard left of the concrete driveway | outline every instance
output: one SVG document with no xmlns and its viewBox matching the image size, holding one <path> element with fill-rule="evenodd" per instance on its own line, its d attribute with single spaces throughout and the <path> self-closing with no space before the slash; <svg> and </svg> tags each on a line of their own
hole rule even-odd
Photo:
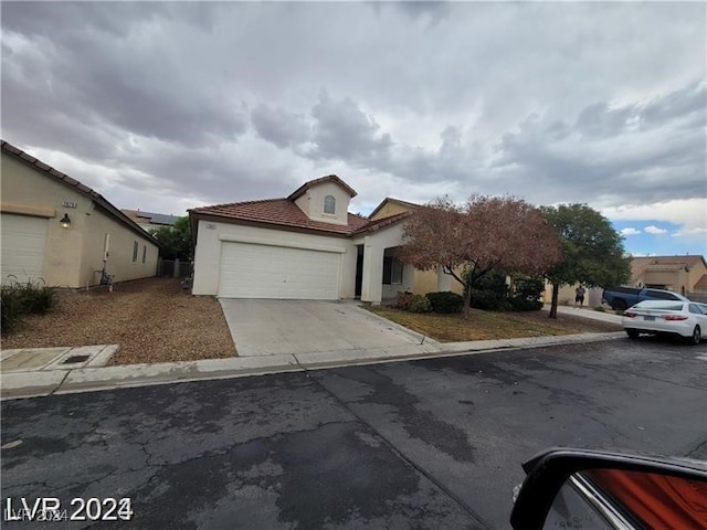
<svg viewBox="0 0 707 530">
<path fill-rule="evenodd" d="M 2 348 L 120 344 L 110 364 L 236 356 L 215 298 L 182 293 L 179 279 L 147 278 L 107 290 L 57 293 L 44 316 L 25 317 Z"/>
</svg>

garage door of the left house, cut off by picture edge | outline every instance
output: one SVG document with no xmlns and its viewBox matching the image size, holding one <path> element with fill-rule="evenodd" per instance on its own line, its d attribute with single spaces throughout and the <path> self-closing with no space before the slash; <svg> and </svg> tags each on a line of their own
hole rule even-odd
<svg viewBox="0 0 707 530">
<path fill-rule="evenodd" d="M 45 218 L 3 213 L 0 218 L 0 245 L 2 283 L 38 279 L 44 276 L 44 245 L 46 243 Z"/>
</svg>

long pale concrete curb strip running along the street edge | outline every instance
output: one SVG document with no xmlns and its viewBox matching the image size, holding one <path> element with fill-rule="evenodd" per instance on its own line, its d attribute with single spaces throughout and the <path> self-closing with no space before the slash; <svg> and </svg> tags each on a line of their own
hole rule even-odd
<svg viewBox="0 0 707 530">
<path fill-rule="evenodd" d="M 2 374 L 1 399 L 6 401 L 52 394 L 73 394 L 189 381 L 235 379 L 250 375 L 379 364 L 383 362 L 463 357 L 520 348 L 598 342 L 615 340 L 623 337 L 625 337 L 623 331 L 616 331 L 609 333 L 580 333 L 475 342 L 436 343 L 429 344 L 429 348 L 418 347 L 419 351 L 414 353 L 405 353 L 405 351 L 410 351 L 411 349 L 411 347 L 405 346 L 370 350 L 346 350 L 344 352 L 319 351 L 297 354 L 165 362 L 157 364 L 81 368 L 61 372 L 9 372 Z"/>
</svg>

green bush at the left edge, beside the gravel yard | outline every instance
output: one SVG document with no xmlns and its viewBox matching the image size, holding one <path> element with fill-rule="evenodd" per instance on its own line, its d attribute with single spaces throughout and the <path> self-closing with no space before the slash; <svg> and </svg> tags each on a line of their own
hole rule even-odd
<svg viewBox="0 0 707 530">
<path fill-rule="evenodd" d="M 56 289 L 44 285 L 43 280 L 21 284 L 13 282 L 0 289 L 0 314 L 2 333 L 17 328 L 23 315 L 43 315 L 56 304 Z"/>
</svg>

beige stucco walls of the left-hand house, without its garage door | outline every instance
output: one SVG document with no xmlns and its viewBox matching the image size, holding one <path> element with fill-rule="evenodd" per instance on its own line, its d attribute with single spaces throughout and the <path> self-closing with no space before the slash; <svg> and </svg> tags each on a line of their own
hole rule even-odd
<svg viewBox="0 0 707 530">
<path fill-rule="evenodd" d="M 86 282 L 97 285 L 99 276 L 93 273 L 93 268 L 103 266 L 106 232 L 110 232 L 116 245 L 116 253 L 110 253 L 108 269 L 109 274 L 115 274 L 116 282 L 155 275 L 157 246 L 137 236 L 103 210 L 95 209 L 88 197 L 70 186 L 42 174 L 6 152 L 2 152 L 1 186 L 2 211 L 49 219 L 44 251 L 44 279 L 48 285 L 85 287 Z M 64 206 L 64 202 L 73 203 L 75 208 Z M 68 229 L 59 223 L 64 213 L 71 219 Z M 128 254 L 119 250 L 126 246 L 127 240 L 130 240 Z M 137 266 L 131 264 L 134 240 L 140 244 Z M 143 245 L 148 246 L 146 264 L 141 263 Z M 3 248 L 3 252 L 11 250 Z"/>
</svg>

